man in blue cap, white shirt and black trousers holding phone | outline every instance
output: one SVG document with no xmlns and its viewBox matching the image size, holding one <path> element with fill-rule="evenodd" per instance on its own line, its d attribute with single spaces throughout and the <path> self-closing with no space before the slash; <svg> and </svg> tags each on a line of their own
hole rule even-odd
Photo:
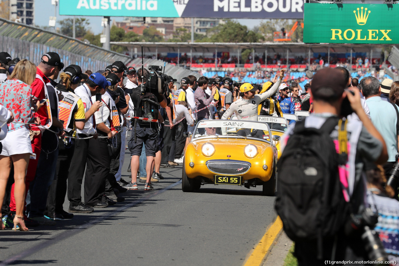
<svg viewBox="0 0 399 266">
<path fill-rule="evenodd" d="M 94 113 L 103 106 L 101 101 L 93 101 L 92 96 L 96 95 L 100 89 L 107 89 L 110 83 L 100 73 L 93 73 L 89 76 L 86 83 L 75 89 L 75 94 L 81 97 L 83 106 L 85 106 L 85 127 L 83 130 L 76 130 L 77 136 L 82 139 L 76 139 L 75 141 L 75 152 L 71 160 L 71 166 L 69 167 L 68 174 L 68 200 L 69 209 L 68 212 L 81 212 L 90 213 L 93 212 L 93 208 L 86 206 L 81 199 L 81 187 L 83 181 L 83 175 L 85 174 L 85 168 L 87 165 L 87 171 L 85 175 L 85 184 L 88 185 L 93 183 L 92 179 L 95 179 L 94 167 L 101 168 L 98 164 L 97 157 L 99 151 L 97 147 L 92 149 L 93 142 L 91 139 L 97 139 L 98 134 L 95 129 L 96 117 Z M 93 138 L 85 139 L 93 136 Z M 86 164 L 87 161 L 87 164 Z M 89 190 L 88 186 L 85 185 L 85 190 Z M 85 195 L 88 193 L 85 193 Z"/>
</svg>

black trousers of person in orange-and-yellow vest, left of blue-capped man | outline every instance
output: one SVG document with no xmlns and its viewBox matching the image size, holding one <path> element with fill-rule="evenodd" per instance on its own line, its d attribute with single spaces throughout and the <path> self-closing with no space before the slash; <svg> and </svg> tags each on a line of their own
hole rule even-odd
<svg viewBox="0 0 399 266">
<path fill-rule="evenodd" d="M 67 179 L 69 167 L 71 165 L 73 153 L 75 151 L 75 139 L 66 139 L 67 144 L 63 140 L 58 142 L 59 153 L 57 159 L 57 168 L 55 170 L 54 181 L 50 186 L 47 196 L 47 214 L 51 217 L 53 213 L 61 213 L 67 194 Z"/>
</svg>

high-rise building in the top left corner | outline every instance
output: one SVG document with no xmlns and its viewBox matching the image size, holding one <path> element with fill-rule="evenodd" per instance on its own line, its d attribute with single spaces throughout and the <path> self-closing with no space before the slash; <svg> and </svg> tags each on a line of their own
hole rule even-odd
<svg viewBox="0 0 399 266">
<path fill-rule="evenodd" d="M 34 0 L 9 0 L 10 2 L 10 20 L 34 25 Z"/>
</svg>

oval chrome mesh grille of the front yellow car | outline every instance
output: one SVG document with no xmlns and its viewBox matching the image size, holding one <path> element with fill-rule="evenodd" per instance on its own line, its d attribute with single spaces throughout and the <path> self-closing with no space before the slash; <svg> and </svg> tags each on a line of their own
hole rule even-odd
<svg viewBox="0 0 399 266">
<path fill-rule="evenodd" d="M 221 175 L 241 175 L 246 173 L 251 164 L 244 161 L 210 160 L 206 162 L 209 171 Z"/>
</svg>

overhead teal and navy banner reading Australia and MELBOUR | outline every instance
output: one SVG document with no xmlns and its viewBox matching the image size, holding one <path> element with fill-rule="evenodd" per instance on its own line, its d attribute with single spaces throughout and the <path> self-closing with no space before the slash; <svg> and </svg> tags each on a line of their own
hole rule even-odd
<svg viewBox="0 0 399 266">
<path fill-rule="evenodd" d="M 304 0 L 60 0 L 60 15 L 303 18 Z"/>
</svg>

